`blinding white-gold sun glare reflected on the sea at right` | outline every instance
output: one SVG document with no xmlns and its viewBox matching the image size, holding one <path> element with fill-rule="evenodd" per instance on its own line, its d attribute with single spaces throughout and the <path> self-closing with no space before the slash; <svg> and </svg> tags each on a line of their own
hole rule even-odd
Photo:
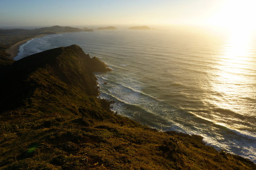
<svg viewBox="0 0 256 170">
<path fill-rule="evenodd" d="M 227 126 L 236 122 L 225 122 L 225 119 L 235 119 L 236 114 L 240 117 L 248 113 L 248 106 L 243 99 L 255 98 L 255 88 L 248 86 L 256 83 L 253 77 L 255 65 L 252 64 L 255 63 L 255 56 L 253 57 L 253 52 L 250 51 L 250 42 L 248 32 L 236 30 L 231 33 L 228 43 L 223 46 L 223 53 L 218 57 L 219 64 L 213 73 L 215 76 L 211 81 L 212 91 L 219 95 L 212 95 L 208 102 L 215 108 L 230 110 L 233 113 L 221 115 L 224 118 L 221 123 Z"/>
</svg>

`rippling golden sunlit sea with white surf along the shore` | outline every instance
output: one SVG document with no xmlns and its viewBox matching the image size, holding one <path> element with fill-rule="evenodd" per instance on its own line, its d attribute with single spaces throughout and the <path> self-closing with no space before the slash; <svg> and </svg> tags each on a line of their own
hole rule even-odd
<svg viewBox="0 0 256 170">
<path fill-rule="evenodd" d="M 28 41 L 14 59 L 71 44 L 113 70 L 96 75 L 99 97 L 115 100 L 118 114 L 201 135 L 256 162 L 255 37 L 190 29 L 62 33 Z"/>
</svg>

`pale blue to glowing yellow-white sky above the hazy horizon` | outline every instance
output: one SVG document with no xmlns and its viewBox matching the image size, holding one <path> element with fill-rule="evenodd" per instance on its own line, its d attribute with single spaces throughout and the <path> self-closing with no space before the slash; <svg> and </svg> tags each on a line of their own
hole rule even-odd
<svg viewBox="0 0 256 170">
<path fill-rule="evenodd" d="M 0 0 L 0 28 L 53 25 L 254 28 L 255 6 L 254 0 Z"/>
</svg>

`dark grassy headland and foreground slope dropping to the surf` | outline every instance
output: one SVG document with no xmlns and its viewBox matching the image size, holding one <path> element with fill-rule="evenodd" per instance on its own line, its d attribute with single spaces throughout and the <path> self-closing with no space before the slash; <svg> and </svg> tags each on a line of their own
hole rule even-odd
<svg viewBox="0 0 256 170">
<path fill-rule="evenodd" d="M 72 45 L 0 67 L 0 169 L 255 169 L 202 137 L 158 132 L 98 99 L 93 71 L 110 71 Z"/>
</svg>

